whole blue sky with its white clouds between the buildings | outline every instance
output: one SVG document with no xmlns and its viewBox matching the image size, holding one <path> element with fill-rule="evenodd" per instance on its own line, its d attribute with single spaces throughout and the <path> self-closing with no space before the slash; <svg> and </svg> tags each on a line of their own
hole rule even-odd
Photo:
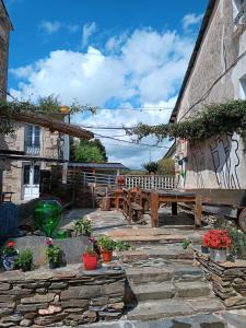
<svg viewBox="0 0 246 328">
<path fill-rule="evenodd" d="M 132 126 L 168 119 L 207 1 L 5 0 L 5 5 L 14 25 L 9 59 L 12 94 L 34 101 L 55 94 L 68 105 L 77 99 L 109 109 L 167 108 L 104 109 L 94 117 L 73 118 L 87 126 Z M 129 140 L 122 134 L 114 133 Z M 131 167 L 165 152 L 102 141 L 110 161 Z"/>
</svg>

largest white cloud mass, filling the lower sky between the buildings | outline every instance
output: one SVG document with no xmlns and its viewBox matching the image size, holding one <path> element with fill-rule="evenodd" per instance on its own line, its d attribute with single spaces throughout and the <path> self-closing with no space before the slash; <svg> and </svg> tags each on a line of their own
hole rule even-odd
<svg viewBox="0 0 246 328">
<path fill-rule="evenodd" d="M 87 34 L 87 36 L 90 33 Z M 120 40 L 117 43 L 117 40 Z M 86 40 L 87 42 L 87 40 Z M 105 46 L 106 45 L 106 46 Z M 67 105 L 81 104 L 105 107 L 114 103 L 119 108 L 167 107 L 166 110 L 98 110 L 95 116 L 77 115 L 81 125 L 133 126 L 140 121 L 156 125 L 168 120 L 185 73 L 194 39 L 172 31 L 136 30 L 128 36 L 112 36 L 101 48 L 89 46 L 85 52 L 54 50 L 47 58 L 27 67 L 12 69 L 20 79 L 17 90 L 10 92 L 21 98 L 36 99 L 58 95 Z M 103 49 L 107 49 L 104 54 Z M 98 131 L 101 134 L 122 136 L 121 130 Z M 119 137 L 131 140 L 130 137 Z M 136 147 L 102 139 L 109 161 L 139 167 L 150 159 L 163 156 L 165 149 Z M 154 144 L 152 137 L 144 140 Z"/>
</svg>

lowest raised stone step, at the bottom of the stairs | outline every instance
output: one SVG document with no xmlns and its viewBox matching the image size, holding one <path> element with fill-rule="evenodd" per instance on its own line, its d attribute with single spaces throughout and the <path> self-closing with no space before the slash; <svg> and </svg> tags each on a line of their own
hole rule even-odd
<svg viewBox="0 0 246 328">
<path fill-rule="evenodd" d="M 165 317 L 183 317 L 183 316 L 190 316 L 190 315 L 194 316 L 198 314 L 212 314 L 216 311 L 223 311 L 223 309 L 224 307 L 221 304 L 220 300 L 218 298 L 200 298 L 196 301 L 175 300 L 175 298 L 155 300 L 155 301 L 148 301 L 148 302 L 139 302 L 133 309 L 129 311 L 126 314 L 126 318 L 130 320 L 145 321 L 145 320 L 162 319 Z M 188 326 L 184 326 L 184 327 L 188 327 Z"/>
</svg>

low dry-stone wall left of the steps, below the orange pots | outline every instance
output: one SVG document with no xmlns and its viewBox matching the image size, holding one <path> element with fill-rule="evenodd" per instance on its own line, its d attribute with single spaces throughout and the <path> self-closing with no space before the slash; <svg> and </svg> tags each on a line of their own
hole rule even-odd
<svg viewBox="0 0 246 328">
<path fill-rule="evenodd" d="M 118 319 L 124 309 L 125 271 L 81 266 L 0 273 L 0 327 L 77 326 Z"/>
</svg>

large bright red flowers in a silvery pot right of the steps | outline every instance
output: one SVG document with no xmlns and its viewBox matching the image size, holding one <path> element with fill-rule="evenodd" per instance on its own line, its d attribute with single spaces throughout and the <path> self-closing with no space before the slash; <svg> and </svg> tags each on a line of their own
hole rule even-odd
<svg viewBox="0 0 246 328">
<path fill-rule="evenodd" d="M 203 246 L 210 248 L 210 259 L 214 262 L 226 261 L 227 248 L 232 239 L 226 230 L 210 230 L 203 235 Z"/>
</svg>

